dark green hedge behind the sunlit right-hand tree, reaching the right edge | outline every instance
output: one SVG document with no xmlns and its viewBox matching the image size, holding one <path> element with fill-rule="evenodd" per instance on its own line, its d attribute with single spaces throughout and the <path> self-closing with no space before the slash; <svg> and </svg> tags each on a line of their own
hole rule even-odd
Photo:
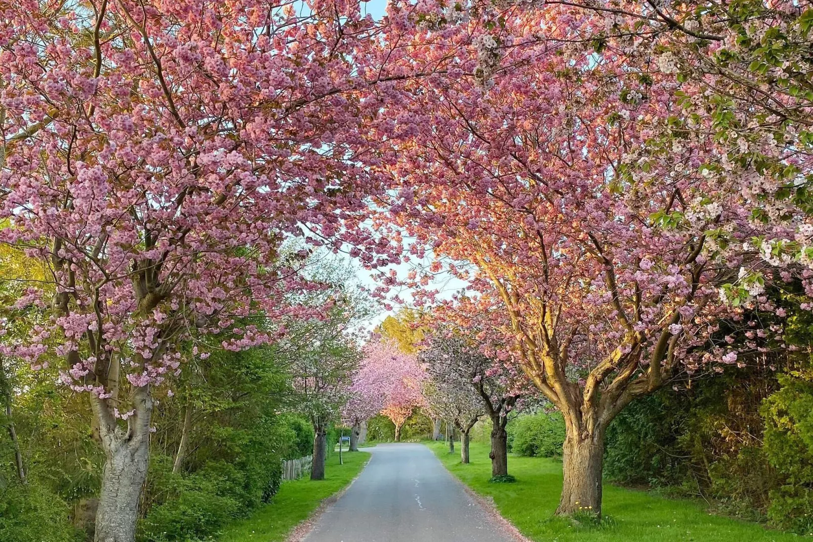
<svg viewBox="0 0 813 542">
<path fill-rule="evenodd" d="M 813 374 L 729 369 L 633 401 L 607 431 L 607 478 L 702 496 L 726 514 L 813 531 Z"/>
</svg>

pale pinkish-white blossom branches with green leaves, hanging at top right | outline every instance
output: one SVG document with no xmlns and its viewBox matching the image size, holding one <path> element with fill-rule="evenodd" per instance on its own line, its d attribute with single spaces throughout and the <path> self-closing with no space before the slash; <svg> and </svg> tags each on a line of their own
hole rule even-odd
<svg viewBox="0 0 813 542">
<path fill-rule="evenodd" d="M 524 11 L 567 32 L 524 37 L 568 58 L 621 60 L 629 72 L 659 80 L 652 90 L 672 94 L 670 115 L 641 119 L 646 144 L 626 152 L 646 183 L 650 164 L 702 144 L 700 173 L 715 182 L 717 203 L 732 195 L 751 214 L 751 237 L 731 235 L 736 221 L 721 219 L 718 242 L 758 256 L 776 269 L 746 266 L 723 285 L 735 304 L 753 299 L 754 283 L 801 278 L 813 295 L 813 86 L 810 83 L 813 4 L 759 2 L 473 2 L 461 11 L 492 23 L 505 10 Z M 488 42 L 493 71 L 502 51 L 517 44 L 511 31 Z M 522 45 L 520 45 L 522 46 Z M 488 56 L 488 55 L 486 55 Z M 649 99 L 649 85 L 639 90 Z M 728 228 L 728 231 L 726 229 Z M 806 308 L 811 307 L 806 303 Z"/>
</svg>

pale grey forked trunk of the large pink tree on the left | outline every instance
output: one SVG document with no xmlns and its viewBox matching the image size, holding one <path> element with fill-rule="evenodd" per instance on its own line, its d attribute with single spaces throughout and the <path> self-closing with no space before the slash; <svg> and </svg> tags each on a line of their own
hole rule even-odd
<svg viewBox="0 0 813 542">
<path fill-rule="evenodd" d="M 152 399 L 149 387 L 133 391 L 134 413 L 124 431 L 111 413 L 107 400 L 91 397 L 105 452 L 102 490 L 96 510 L 95 542 L 133 542 L 136 539 L 138 504 L 150 460 Z"/>
</svg>

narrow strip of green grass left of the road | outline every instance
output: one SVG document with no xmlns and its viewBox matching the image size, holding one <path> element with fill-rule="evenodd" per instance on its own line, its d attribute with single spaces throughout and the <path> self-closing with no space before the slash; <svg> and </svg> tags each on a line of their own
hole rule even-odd
<svg viewBox="0 0 813 542">
<path fill-rule="evenodd" d="M 322 500 L 347 486 L 370 458 L 368 452 L 342 452 L 345 464 L 339 465 L 339 456 L 328 458 L 325 479 L 312 481 L 302 478 L 283 482 L 271 504 L 264 506 L 250 518 L 234 522 L 224 529 L 220 542 L 281 542 L 293 527 L 306 520 L 319 507 Z"/>
</svg>

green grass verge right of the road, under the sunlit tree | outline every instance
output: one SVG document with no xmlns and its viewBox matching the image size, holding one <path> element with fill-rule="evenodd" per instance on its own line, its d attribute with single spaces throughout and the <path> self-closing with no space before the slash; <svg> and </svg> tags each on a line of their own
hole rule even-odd
<svg viewBox="0 0 813 542">
<path fill-rule="evenodd" d="M 574 524 L 554 517 L 562 491 L 562 464 L 540 457 L 509 457 L 516 483 L 489 483 L 487 444 L 472 443 L 471 463 L 460 463 L 459 448 L 428 443 L 448 470 L 480 495 L 493 497 L 500 514 L 539 542 L 785 542 L 799 536 L 770 531 L 706 512 L 702 503 L 654 496 L 604 484 L 602 524 Z"/>
</svg>

